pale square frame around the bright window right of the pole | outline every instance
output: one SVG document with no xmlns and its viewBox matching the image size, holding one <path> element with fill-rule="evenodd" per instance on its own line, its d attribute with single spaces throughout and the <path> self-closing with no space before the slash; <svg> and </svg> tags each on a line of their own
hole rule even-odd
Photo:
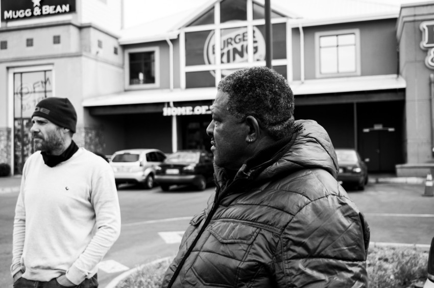
<svg viewBox="0 0 434 288">
<path fill-rule="evenodd" d="M 342 73 L 321 73 L 321 58 L 320 58 L 320 37 L 323 36 L 339 36 L 344 34 L 354 34 L 355 36 L 355 71 L 342 72 Z M 360 30 L 359 29 L 345 29 L 315 32 L 315 76 L 316 78 L 333 78 L 333 77 L 346 77 L 346 76 L 360 76 L 361 75 L 361 61 L 360 61 Z"/>
</svg>

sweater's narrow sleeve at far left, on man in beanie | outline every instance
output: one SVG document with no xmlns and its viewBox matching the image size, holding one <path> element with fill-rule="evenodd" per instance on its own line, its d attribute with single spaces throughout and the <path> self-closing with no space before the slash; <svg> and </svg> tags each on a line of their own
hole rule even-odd
<svg viewBox="0 0 434 288">
<path fill-rule="evenodd" d="M 26 166 L 27 167 L 27 166 Z M 26 168 L 25 168 L 26 169 Z M 21 270 L 21 255 L 24 248 L 24 239 L 26 237 L 26 210 L 23 200 L 23 189 L 26 181 L 25 173 L 21 178 L 21 186 L 18 195 L 18 200 L 15 207 L 14 230 L 12 240 L 12 277 Z"/>
</svg>

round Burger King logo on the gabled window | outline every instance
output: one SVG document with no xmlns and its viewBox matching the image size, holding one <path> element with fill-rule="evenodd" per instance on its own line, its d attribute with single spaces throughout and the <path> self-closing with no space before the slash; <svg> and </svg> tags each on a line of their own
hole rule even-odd
<svg viewBox="0 0 434 288">
<path fill-rule="evenodd" d="M 221 63 L 240 63 L 247 62 L 247 27 L 237 27 L 222 29 L 221 36 Z M 258 28 L 253 27 L 253 58 L 254 61 L 265 59 L 266 47 L 265 39 Z M 214 31 L 211 31 L 206 38 L 203 51 L 205 64 L 215 64 L 215 37 Z M 222 70 L 222 76 L 230 74 L 230 70 Z M 214 76 L 214 71 L 211 71 Z"/>
</svg>

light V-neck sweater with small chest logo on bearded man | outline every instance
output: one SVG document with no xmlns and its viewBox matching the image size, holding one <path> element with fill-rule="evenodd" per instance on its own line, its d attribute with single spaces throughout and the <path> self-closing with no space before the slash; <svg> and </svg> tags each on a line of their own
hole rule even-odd
<svg viewBox="0 0 434 288">
<path fill-rule="evenodd" d="M 26 161 L 15 208 L 11 273 L 50 281 L 66 273 L 75 284 L 97 273 L 120 233 L 113 170 L 79 150 L 55 167 L 35 152 Z"/>
</svg>

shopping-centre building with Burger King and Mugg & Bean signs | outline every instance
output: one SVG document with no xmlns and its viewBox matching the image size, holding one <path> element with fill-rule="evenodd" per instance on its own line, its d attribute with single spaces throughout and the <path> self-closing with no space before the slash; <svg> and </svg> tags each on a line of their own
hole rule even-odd
<svg viewBox="0 0 434 288">
<path fill-rule="evenodd" d="M 208 1 L 161 31 L 157 23 L 120 30 L 114 0 L 65 1 L 68 12 L 49 4 L 40 1 L 54 7 L 46 13 L 64 14 L 10 19 L 27 9 L 2 5 L 0 163 L 15 173 L 32 152 L 30 115 L 40 98 L 71 99 L 76 142 L 92 151 L 209 149 L 216 85 L 266 65 L 260 1 Z M 272 66 L 293 88 L 295 118 L 319 122 L 335 147 L 356 148 L 371 172 L 432 161 L 433 10 L 422 3 L 399 15 L 305 20 L 272 6 Z M 105 23 L 102 12 L 117 20 Z"/>
</svg>

